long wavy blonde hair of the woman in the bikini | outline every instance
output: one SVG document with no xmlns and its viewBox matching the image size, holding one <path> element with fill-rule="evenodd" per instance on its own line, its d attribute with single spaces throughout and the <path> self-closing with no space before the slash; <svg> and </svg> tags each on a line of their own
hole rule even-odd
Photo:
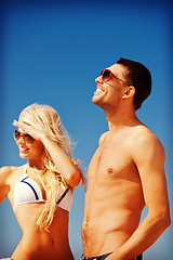
<svg viewBox="0 0 173 260">
<path fill-rule="evenodd" d="M 19 120 L 44 131 L 70 158 L 72 158 L 70 139 L 59 119 L 59 116 L 53 107 L 49 105 L 31 104 L 21 113 Z M 37 221 L 37 225 L 48 231 L 53 221 L 54 212 L 56 210 L 58 187 L 61 184 L 63 184 L 65 187 L 68 187 L 68 185 L 62 177 L 61 172 L 57 172 L 57 168 L 52 160 L 49 152 L 46 150 L 44 150 L 44 167 L 40 173 L 40 179 L 45 190 L 46 203 Z M 81 167 L 79 166 L 79 160 L 72 159 L 72 161 L 80 169 L 82 184 L 85 190 L 86 181 L 82 173 Z"/>
</svg>

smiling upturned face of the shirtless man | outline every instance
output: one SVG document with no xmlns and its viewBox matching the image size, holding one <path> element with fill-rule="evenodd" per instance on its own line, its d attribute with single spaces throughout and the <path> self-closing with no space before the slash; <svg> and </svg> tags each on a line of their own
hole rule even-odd
<svg viewBox="0 0 173 260">
<path fill-rule="evenodd" d="M 127 87 L 123 82 L 125 81 L 125 68 L 120 64 L 115 64 L 107 69 L 111 72 L 112 76 L 106 82 L 103 80 L 102 75 L 95 79 L 97 89 L 94 92 L 92 101 L 104 109 L 118 108 Z"/>
</svg>

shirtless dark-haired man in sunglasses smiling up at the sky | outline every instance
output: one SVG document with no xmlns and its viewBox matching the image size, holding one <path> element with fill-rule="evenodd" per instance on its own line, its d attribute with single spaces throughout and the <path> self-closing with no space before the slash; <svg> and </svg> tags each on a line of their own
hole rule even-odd
<svg viewBox="0 0 173 260">
<path fill-rule="evenodd" d="M 81 259 L 142 259 L 171 223 L 164 150 L 135 114 L 150 94 L 151 76 L 143 64 L 120 58 L 95 81 L 92 101 L 109 130 L 88 169 Z"/>
</svg>

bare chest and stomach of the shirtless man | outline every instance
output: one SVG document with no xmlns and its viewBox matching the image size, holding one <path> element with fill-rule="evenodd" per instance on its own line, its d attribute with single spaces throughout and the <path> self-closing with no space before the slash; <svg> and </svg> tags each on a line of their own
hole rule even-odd
<svg viewBox="0 0 173 260">
<path fill-rule="evenodd" d="M 131 131 L 107 132 L 91 160 L 82 225 L 85 257 L 114 251 L 138 226 L 145 203 L 131 156 L 133 141 Z"/>
</svg>

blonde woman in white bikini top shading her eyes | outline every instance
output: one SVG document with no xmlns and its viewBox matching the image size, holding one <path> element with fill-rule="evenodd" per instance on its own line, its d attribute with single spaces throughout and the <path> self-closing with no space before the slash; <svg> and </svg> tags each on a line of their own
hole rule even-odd
<svg viewBox="0 0 173 260">
<path fill-rule="evenodd" d="M 57 113 L 32 104 L 14 121 L 14 138 L 26 165 L 0 170 L 0 202 L 6 196 L 23 231 L 13 260 L 74 260 L 68 214 L 74 188 L 85 179 L 71 159 Z"/>
</svg>

